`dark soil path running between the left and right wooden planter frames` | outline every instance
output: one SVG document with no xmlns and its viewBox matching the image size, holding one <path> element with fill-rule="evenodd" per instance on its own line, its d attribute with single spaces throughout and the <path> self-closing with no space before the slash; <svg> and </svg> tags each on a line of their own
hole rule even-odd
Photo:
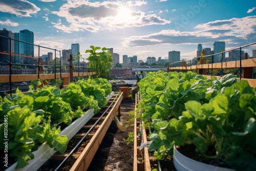
<svg viewBox="0 0 256 171">
<path fill-rule="evenodd" d="M 127 139 L 129 133 L 134 132 L 134 120 L 131 121 L 132 117 L 129 116 L 129 113 L 134 109 L 135 100 L 122 99 L 121 116 L 118 116 L 118 119 L 126 124 L 130 120 L 130 126 L 125 131 L 120 131 L 114 121 L 111 123 L 88 170 L 133 170 L 134 143 L 131 142 L 127 145 L 123 139 Z M 160 161 L 160 163 L 163 171 L 175 170 L 172 158 Z M 152 169 L 157 168 L 157 163 L 153 163 L 151 167 Z"/>
</svg>

